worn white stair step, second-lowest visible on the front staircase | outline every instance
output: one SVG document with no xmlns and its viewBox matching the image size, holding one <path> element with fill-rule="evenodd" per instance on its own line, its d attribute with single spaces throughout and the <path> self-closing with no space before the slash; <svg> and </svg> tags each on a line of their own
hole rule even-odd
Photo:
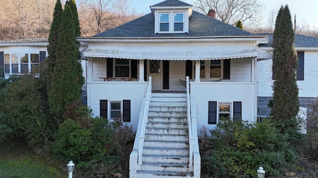
<svg viewBox="0 0 318 178">
<path fill-rule="evenodd" d="M 143 162 L 141 171 L 193 172 L 193 167 L 182 163 L 147 163 Z"/>
</svg>

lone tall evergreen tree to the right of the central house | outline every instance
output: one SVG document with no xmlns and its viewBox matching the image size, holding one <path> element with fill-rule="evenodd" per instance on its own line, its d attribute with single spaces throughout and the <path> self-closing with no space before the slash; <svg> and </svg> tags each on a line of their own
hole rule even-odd
<svg viewBox="0 0 318 178">
<path fill-rule="evenodd" d="M 286 127 L 297 127 L 299 111 L 296 69 L 298 58 L 295 50 L 293 24 L 288 5 L 281 6 L 273 34 L 273 99 L 271 114 Z"/>
</svg>

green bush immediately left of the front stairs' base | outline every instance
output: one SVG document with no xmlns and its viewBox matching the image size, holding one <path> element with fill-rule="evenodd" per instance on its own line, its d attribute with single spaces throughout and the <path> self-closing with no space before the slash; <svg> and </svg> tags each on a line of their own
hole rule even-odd
<svg viewBox="0 0 318 178">
<path fill-rule="evenodd" d="M 71 119 L 62 123 L 50 147 L 53 155 L 63 161 L 72 159 L 77 167 L 95 176 L 128 171 L 135 138 L 132 128 L 105 118 L 85 123 L 89 126 Z"/>
</svg>

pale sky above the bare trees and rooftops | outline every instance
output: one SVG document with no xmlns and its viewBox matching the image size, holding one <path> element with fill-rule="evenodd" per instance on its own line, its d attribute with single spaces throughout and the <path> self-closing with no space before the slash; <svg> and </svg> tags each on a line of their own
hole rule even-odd
<svg viewBox="0 0 318 178">
<path fill-rule="evenodd" d="M 135 8 L 138 13 L 150 13 L 151 5 L 155 5 L 163 0 L 132 0 L 132 7 Z M 189 4 L 193 4 L 195 0 L 185 0 Z M 288 4 L 292 21 L 294 22 L 294 14 L 296 14 L 296 24 L 301 19 L 307 20 L 311 27 L 316 26 L 318 28 L 318 0 L 259 0 L 263 2 L 266 9 L 262 12 L 264 22 L 267 22 L 269 12 L 279 10 L 280 6 Z"/>
</svg>

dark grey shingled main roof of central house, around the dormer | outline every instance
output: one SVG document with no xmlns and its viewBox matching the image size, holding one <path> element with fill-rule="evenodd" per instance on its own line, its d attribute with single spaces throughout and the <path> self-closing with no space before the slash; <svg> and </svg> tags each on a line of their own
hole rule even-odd
<svg viewBox="0 0 318 178">
<path fill-rule="evenodd" d="M 175 0 L 165 0 L 170 3 Z M 179 1 L 179 0 L 177 0 Z M 182 2 L 182 1 L 181 1 Z M 182 2 L 182 4 L 185 2 Z M 156 4 L 156 5 L 158 5 Z M 185 3 L 187 4 L 187 3 Z M 209 17 L 197 11 L 189 18 L 189 33 L 155 34 L 155 19 L 152 13 L 127 22 L 113 29 L 99 33 L 93 37 L 104 38 L 180 38 L 180 37 L 240 37 L 259 36 L 249 33 L 225 22 Z"/>
</svg>

